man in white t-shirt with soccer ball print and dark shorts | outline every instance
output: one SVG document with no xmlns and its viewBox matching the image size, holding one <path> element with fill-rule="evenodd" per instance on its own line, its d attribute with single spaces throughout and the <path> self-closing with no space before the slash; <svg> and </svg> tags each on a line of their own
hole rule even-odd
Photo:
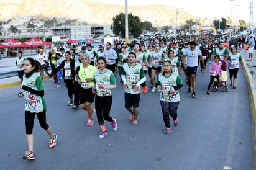
<svg viewBox="0 0 256 170">
<path fill-rule="evenodd" d="M 203 56 L 201 50 L 196 48 L 196 42 L 190 42 L 190 47 L 186 48 L 183 53 L 183 68 L 186 70 L 188 76 L 188 93 L 191 93 L 191 85 L 193 87 L 192 97 L 196 97 L 196 74 L 198 71 L 198 58 L 203 63 L 203 69 L 205 69 Z M 185 64 L 186 63 L 186 64 Z"/>
</svg>

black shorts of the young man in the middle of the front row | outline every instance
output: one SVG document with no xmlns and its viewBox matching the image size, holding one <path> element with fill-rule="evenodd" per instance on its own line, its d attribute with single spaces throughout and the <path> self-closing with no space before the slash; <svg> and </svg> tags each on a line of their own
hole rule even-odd
<svg viewBox="0 0 256 170">
<path fill-rule="evenodd" d="M 124 93 L 124 107 L 130 108 L 130 107 L 139 107 L 140 104 L 140 93 L 138 94 L 130 94 L 125 92 Z"/>
</svg>

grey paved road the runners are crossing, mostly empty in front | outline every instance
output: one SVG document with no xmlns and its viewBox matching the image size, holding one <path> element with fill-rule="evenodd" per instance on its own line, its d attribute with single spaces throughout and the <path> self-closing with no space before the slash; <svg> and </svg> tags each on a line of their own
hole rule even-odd
<svg viewBox="0 0 256 170">
<path fill-rule="evenodd" d="M 49 149 L 48 135 L 35 120 L 35 161 L 22 159 L 27 143 L 19 86 L 0 89 L 1 169 L 253 169 L 251 115 L 242 70 L 238 78 L 237 89 L 208 96 L 209 73 L 199 73 L 196 99 L 186 93 L 185 84 L 180 89 L 180 123 L 176 128 L 171 124 L 169 135 L 163 134 L 158 92 L 141 94 L 139 125 L 134 126 L 117 83 L 111 115 L 119 129 L 114 132 L 106 122 L 109 135 L 103 139 L 98 138 L 97 122 L 86 127 L 85 111 L 66 106 L 65 84 L 55 89 L 55 84 L 45 80 L 47 122 L 58 139 L 57 146 Z"/>
</svg>

